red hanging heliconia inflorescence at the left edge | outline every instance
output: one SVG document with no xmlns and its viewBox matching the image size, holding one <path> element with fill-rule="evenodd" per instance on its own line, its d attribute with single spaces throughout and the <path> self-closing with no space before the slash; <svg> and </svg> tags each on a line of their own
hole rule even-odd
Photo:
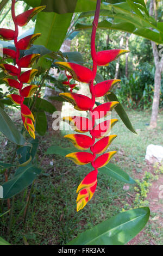
<svg viewBox="0 0 163 256">
<path fill-rule="evenodd" d="M 16 66 L 10 64 L 0 64 L 0 68 L 3 69 L 6 75 L 17 77 L 13 78 L 4 78 L 3 81 L 7 83 L 8 86 L 12 88 L 18 89 L 18 94 L 10 94 L 8 97 L 17 105 L 21 106 L 21 116 L 24 127 L 29 132 L 29 135 L 35 138 L 35 127 L 33 122 L 34 116 L 30 109 L 23 104 L 24 97 L 31 97 L 34 92 L 37 90 L 37 86 L 35 84 L 30 84 L 30 86 L 26 86 L 23 88 L 23 83 L 30 83 L 34 76 L 37 74 L 36 69 L 30 69 L 26 72 L 22 72 L 22 68 L 31 68 L 32 64 L 36 59 L 40 57 L 40 54 L 29 54 L 20 58 L 20 50 L 29 49 L 34 40 L 40 36 L 40 33 L 28 35 L 20 40 L 18 40 L 18 26 L 22 27 L 27 25 L 27 23 L 32 19 L 34 15 L 39 13 L 39 11 L 43 10 L 46 6 L 36 7 L 30 10 L 25 11 L 22 14 L 15 15 L 15 0 L 12 0 L 11 5 L 11 14 L 12 20 L 14 21 L 15 31 L 7 28 L 0 28 L 0 38 L 4 40 L 14 40 L 16 51 L 10 50 L 8 48 L 3 48 L 3 56 L 12 58 L 15 61 Z"/>
</svg>

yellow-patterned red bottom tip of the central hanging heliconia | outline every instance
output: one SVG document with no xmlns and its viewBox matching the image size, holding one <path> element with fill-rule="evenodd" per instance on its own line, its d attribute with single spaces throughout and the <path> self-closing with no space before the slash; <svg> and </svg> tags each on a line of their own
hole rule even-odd
<svg viewBox="0 0 163 256">
<path fill-rule="evenodd" d="M 92 170 L 85 176 L 77 188 L 77 211 L 82 210 L 95 193 L 97 187 L 97 172 Z"/>
</svg>

